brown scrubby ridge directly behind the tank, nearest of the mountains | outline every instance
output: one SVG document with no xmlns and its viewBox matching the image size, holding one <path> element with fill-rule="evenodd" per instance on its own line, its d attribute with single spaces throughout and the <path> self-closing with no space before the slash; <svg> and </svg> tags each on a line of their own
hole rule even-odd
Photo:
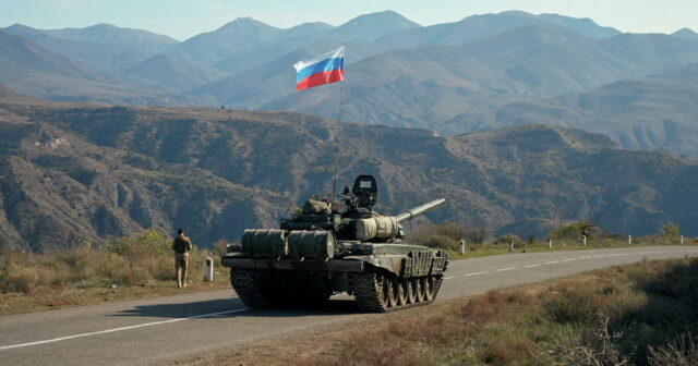
<svg viewBox="0 0 698 366">
<path fill-rule="evenodd" d="M 141 228 L 198 245 L 277 224 L 287 208 L 374 174 L 377 209 L 527 235 L 588 218 L 641 235 L 698 234 L 696 162 L 528 125 L 452 137 L 290 112 L 0 100 L 0 247 L 50 249 Z M 336 154 L 336 160 L 335 160 Z"/>
</svg>

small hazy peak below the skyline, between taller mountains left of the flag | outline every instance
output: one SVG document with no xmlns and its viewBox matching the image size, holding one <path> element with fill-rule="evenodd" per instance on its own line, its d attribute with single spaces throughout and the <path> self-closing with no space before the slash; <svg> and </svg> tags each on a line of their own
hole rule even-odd
<svg viewBox="0 0 698 366">
<path fill-rule="evenodd" d="M 213 68 L 191 63 L 183 59 L 158 53 L 125 71 L 127 75 L 173 90 L 191 90 L 218 81 L 224 74 Z"/>
</svg>

